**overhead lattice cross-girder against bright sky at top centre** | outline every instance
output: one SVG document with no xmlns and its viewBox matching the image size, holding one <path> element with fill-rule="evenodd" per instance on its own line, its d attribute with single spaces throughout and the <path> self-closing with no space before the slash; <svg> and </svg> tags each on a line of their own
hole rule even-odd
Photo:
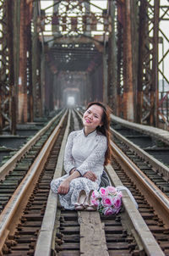
<svg viewBox="0 0 169 256">
<path fill-rule="evenodd" d="M 90 6 L 95 6 L 96 11 L 91 12 Z M 48 11 L 49 6 L 43 9 L 38 17 L 40 31 L 53 31 L 56 35 L 81 35 L 91 36 L 91 31 L 109 31 L 109 19 L 106 9 L 89 1 L 57 1 L 53 2 L 53 13 Z M 46 29 L 46 25 L 52 25 Z"/>
</svg>

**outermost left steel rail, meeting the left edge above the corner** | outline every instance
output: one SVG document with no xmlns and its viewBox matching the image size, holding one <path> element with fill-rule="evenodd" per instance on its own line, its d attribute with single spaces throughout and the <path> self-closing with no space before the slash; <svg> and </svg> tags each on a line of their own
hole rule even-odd
<svg viewBox="0 0 169 256">
<path fill-rule="evenodd" d="M 3 166 L 0 167 L 0 179 L 2 180 L 5 175 L 8 174 L 9 170 L 13 170 L 15 164 L 19 159 L 23 157 L 23 155 L 32 147 L 35 142 L 46 132 L 46 130 L 52 125 L 53 122 L 57 120 L 57 118 L 63 114 L 63 111 L 61 111 L 59 114 L 57 114 L 49 123 L 41 129 L 41 131 L 38 131 L 35 136 L 33 136 L 29 142 L 25 144 L 24 147 L 20 148 L 17 153 L 14 154 L 14 156 L 11 159 L 8 159 L 8 161 L 3 164 Z"/>
</svg>

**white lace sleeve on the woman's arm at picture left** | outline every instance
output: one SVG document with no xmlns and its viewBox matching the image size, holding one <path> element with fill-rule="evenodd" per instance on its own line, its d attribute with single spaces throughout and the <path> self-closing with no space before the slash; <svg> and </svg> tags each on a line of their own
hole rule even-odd
<svg viewBox="0 0 169 256">
<path fill-rule="evenodd" d="M 65 147 L 64 152 L 64 170 L 66 173 L 69 173 L 70 170 L 74 169 L 74 158 L 72 156 L 72 147 L 74 139 L 74 131 L 71 132 L 68 136 L 68 142 Z"/>
</svg>

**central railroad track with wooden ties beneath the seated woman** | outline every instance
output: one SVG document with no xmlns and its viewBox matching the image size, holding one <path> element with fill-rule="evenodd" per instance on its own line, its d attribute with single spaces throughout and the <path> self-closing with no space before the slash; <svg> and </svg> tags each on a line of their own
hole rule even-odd
<svg viewBox="0 0 169 256">
<path fill-rule="evenodd" d="M 68 123 L 65 117 L 57 139 L 53 139 L 52 145 L 48 142 L 50 149 L 45 150 L 46 144 L 42 147 L 46 159 L 42 160 L 43 164 L 37 164 L 40 159 L 36 159 L 36 163 L 31 165 L 32 170 L 39 170 L 39 173 L 30 182 L 32 186 L 27 186 L 25 196 L 20 192 L 22 201 L 15 207 L 17 211 L 10 215 L 12 222 L 8 220 L 7 213 L 11 208 L 7 206 L 13 197 L 3 209 L 0 215 L 2 255 L 169 255 L 166 220 L 156 214 L 156 209 L 144 198 L 142 188 L 128 176 L 127 170 L 134 169 L 136 165 L 129 163 L 131 167 L 128 160 L 120 159 L 118 147 L 112 165 L 109 164 L 106 170 L 114 186 L 121 186 L 122 181 L 124 186 L 128 186 L 139 204 L 139 211 L 127 191 L 123 191 L 123 211 L 117 216 L 100 218 L 98 212 L 68 211 L 59 206 L 57 195 L 50 191 L 49 185 L 53 176 L 57 178 L 63 174 L 68 132 L 74 127 L 79 129 L 79 120 L 77 112 L 69 112 Z M 23 214 L 19 215 L 19 212 Z"/>
</svg>

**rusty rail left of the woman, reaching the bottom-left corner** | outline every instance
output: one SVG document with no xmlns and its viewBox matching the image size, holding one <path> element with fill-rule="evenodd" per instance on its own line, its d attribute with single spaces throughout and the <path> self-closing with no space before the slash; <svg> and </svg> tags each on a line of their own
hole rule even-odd
<svg viewBox="0 0 169 256">
<path fill-rule="evenodd" d="M 3 209 L 2 214 L 0 215 L 0 252 L 3 249 L 3 244 L 8 237 L 9 231 L 13 230 L 13 225 L 19 221 L 19 212 L 24 209 L 27 202 L 26 199 L 29 198 L 30 193 L 34 189 L 35 181 L 37 181 L 39 175 L 41 174 L 41 170 L 43 169 L 52 146 L 57 139 L 67 113 L 68 111 L 63 114 L 59 124 L 54 131 L 52 131 L 52 135 L 47 139 L 45 145 L 41 148 L 41 152 L 38 154 L 34 163 L 30 166 L 30 170 L 28 171 L 27 175 L 25 175 L 25 178 L 23 181 L 21 181 L 18 188 L 14 192 L 13 197 L 10 198 L 6 207 Z"/>
</svg>

